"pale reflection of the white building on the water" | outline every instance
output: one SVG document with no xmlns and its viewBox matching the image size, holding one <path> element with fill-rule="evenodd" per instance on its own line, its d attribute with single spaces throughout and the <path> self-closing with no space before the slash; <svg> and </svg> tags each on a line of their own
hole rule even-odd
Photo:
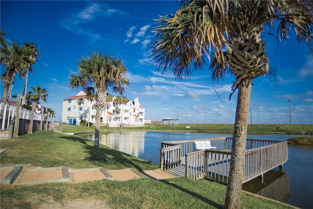
<svg viewBox="0 0 313 209">
<path fill-rule="evenodd" d="M 144 152 L 145 133 L 145 131 L 101 133 L 99 143 L 138 157 Z M 80 136 L 94 140 L 94 133 L 85 133 Z"/>
</svg>

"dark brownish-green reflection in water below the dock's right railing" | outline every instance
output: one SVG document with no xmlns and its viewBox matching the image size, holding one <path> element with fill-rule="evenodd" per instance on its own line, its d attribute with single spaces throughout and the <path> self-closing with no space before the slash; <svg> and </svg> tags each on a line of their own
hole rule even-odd
<svg viewBox="0 0 313 209">
<path fill-rule="evenodd" d="M 290 195 L 289 175 L 270 170 L 264 174 L 263 180 L 257 177 L 243 184 L 243 190 L 284 202 Z"/>
</svg>

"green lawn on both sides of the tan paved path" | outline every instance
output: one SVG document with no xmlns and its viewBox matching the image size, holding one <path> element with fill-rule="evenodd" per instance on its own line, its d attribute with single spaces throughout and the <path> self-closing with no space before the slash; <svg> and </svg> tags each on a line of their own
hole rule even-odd
<svg viewBox="0 0 313 209">
<path fill-rule="evenodd" d="M 69 168 L 104 167 L 138 170 L 157 169 L 158 165 L 112 150 L 93 141 L 51 131 L 36 132 L 16 139 L 1 140 L 1 164 Z M 169 180 L 150 178 L 118 182 L 101 180 L 87 183 L 44 183 L 1 185 L 0 208 L 34 209 L 41 204 L 60 208 L 67 200 L 105 200 L 113 209 L 224 208 L 226 186 L 184 177 Z M 291 208 L 278 202 L 242 193 L 242 208 Z"/>
</svg>

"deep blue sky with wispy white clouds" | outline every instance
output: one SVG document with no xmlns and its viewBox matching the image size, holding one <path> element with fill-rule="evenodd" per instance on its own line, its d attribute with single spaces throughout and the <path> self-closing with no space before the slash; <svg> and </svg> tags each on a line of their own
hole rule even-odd
<svg viewBox="0 0 313 209">
<path fill-rule="evenodd" d="M 231 100 L 234 75 L 228 74 L 212 87 L 211 71 L 193 72 L 190 80 L 179 81 L 162 74 L 151 60 L 150 46 L 156 39 L 153 28 L 158 15 L 175 13 L 177 1 L 0 1 L 0 27 L 6 41 L 22 45 L 33 42 L 41 57 L 28 77 L 27 91 L 37 85 L 49 96 L 45 107 L 62 118 L 62 101 L 76 95 L 68 86 L 68 75 L 77 71 L 78 60 L 92 51 L 122 58 L 131 86 L 124 95 L 145 107 L 146 117 L 179 123 L 234 123 L 237 93 Z M 275 31 L 273 31 L 275 33 Z M 276 76 L 253 80 L 250 108 L 252 123 L 313 124 L 313 56 L 306 44 L 293 35 L 277 44 L 265 35 L 270 67 Z M 3 68 L 1 67 L 1 74 Z M 24 79 L 17 78 L 13 93 L 23 91 Z M 3 82 L 1 81 L 1 97 Z M 109 92 L 112 93 L 112 92 Z M 112 93 L 114 94 L 114 93 Z M 249 124 L 251 123 L 249 114 Z"/>
</svg>

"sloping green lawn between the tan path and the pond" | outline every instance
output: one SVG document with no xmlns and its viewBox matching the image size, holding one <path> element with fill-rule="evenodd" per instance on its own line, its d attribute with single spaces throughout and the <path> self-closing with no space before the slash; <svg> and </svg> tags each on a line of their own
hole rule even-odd
<svg viewBox="0 0 313 209">
<path fill-rule="evenodd" d="M 68 166 L 72 169 L 103 167 L 105 169 L 135 168 L 151 170 L 159 168 L 155 163 L 117 152 L 77 136 L 53 131 L 35 132 L 15 139 L 1 140 L 1 164 L 32 164 L 41 167 Z"/>
</svg>

